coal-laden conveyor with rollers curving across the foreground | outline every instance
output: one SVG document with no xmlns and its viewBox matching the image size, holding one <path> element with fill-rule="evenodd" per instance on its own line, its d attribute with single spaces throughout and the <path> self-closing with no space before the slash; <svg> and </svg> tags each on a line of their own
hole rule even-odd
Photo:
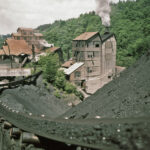
<svg viewBox="0 0 150 150">
<path fill-rule="evenodd" d="M 2 87 L 19 86 L 38 75 Z M 0 150 L 148 150 L 150 147 L 150 117 L 51 119 L 12 110 L 0 101 L 0 129 Z"/>
</svg>

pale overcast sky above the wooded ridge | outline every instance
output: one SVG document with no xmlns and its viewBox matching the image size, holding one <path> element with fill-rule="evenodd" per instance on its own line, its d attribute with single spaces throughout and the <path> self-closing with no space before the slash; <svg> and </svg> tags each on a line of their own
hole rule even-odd
<svg viewBox="0 0 150 150">
<path fill-rule="evenodd" d="M 95 8 L 95 0 L 0 0 L 0 34 L 78 17 Z"/>
</svg>

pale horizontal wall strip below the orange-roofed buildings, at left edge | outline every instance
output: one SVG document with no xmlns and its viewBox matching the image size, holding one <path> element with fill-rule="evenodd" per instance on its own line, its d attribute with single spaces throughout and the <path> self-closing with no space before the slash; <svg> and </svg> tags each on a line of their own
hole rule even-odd
<svg viewBox="0 0 150 150">
<path fill-rule="evenodd" d="M 0 77 L 18 77 L 31 75 L 31 69 L 17 68 L 17 69 L 0 69 Z"/>
</svg>

